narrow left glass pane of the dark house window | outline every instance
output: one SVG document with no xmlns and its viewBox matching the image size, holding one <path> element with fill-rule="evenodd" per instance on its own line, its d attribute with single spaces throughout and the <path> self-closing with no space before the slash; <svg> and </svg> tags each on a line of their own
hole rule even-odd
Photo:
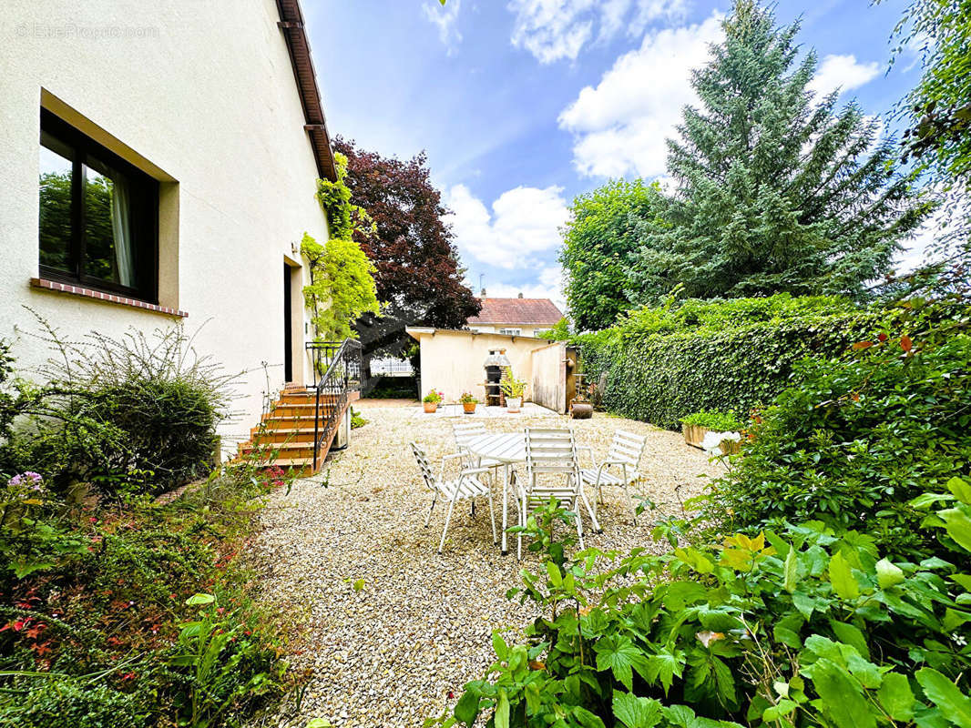
<svg viewBox="0 0 971 728">
<path fill-rule="evenodd" d="M 73 270 L 71 261 L 71 193 L 74 152 L 41 132 L 41 265 Z"/>
</svg>

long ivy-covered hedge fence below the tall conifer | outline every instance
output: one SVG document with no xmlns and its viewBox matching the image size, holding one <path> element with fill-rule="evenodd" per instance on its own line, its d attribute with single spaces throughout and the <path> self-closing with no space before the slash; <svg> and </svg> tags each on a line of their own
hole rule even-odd
<svg viewBox="0 0 971 728">
<path fill-rule="evenodd" d="M 882 319 L 878 310 L 831 298 L 688 301 L 573 341 L 586 381 L 604 384 L 608 411 L 679 429 L 687 414 L 744 416 L 771 402 L 789 384 L 795 362 L 838 355 Z"/>
</svg>

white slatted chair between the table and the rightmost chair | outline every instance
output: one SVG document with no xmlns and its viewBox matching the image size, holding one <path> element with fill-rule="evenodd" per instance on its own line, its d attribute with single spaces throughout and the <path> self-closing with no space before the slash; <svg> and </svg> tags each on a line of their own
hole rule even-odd
<svg viewBox="0 0 971 728">
<path fill-rule="evenodd" d="M 584 524 L 580 515 L 583 501 L 593 522 L 593 530 L 600 531 L 597 516 L 590 508 L 580 478 L 577 442 L 573 430 L 526 428 L 526 477 L 519 483 L 519 525 L 525 526 L 529 505 L 548 502 L 566 504 L 577 517 L 577 536 L 584 547 Z M 519 533 L 517 553 L 522 558 L 522 534 Z"/>
</svg>

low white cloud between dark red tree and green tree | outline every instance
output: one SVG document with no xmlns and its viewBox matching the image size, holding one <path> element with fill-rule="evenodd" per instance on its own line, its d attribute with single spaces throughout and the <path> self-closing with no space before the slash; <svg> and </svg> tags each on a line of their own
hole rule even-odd
<svg viewBox="0 0 971 728">
<path fill-rule="evenodd" d="M 560 244 L 568 215 L 562 187 L 516 187 L 499 195 L 491 212 L 464 184 L 445 195 L 455 243 L 464 255 L 500 268 L 535 265 L 537 254 Z"/>
</svg>

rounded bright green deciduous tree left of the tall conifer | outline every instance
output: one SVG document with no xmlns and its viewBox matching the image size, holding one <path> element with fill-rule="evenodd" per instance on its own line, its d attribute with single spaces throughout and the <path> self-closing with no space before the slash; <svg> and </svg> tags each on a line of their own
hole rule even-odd
<svg viewBox="0 0 971 728">
<path fill-rule="evenodd" d="M 612 180 L 574 199 L 559 261 L 579 330 L 610 326 L 631 308 L 626 268 L 640 247 L 638 223 L 653 222 L 659 198 L 656 184 Z"/>
</svg>

